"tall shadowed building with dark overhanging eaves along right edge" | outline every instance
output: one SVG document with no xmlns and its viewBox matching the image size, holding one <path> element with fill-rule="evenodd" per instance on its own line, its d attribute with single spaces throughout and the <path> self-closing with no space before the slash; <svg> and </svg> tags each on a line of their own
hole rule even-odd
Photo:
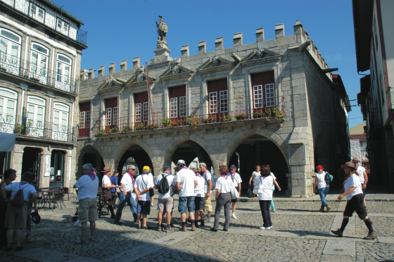
<svg viewBox="0 0 394 262">
<path fill-rule="evenodd" d="M 357 72 L 357 104 L 367 125 L 371 182 L 394 187 L 394 23 L 389 0 L 353 0 Z"/>
</svg>

